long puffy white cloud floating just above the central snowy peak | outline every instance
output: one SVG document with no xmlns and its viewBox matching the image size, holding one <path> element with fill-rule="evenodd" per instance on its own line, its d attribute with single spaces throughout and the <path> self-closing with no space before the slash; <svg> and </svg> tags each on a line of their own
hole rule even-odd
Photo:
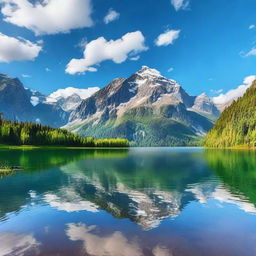
<svg viewBox="0 0 256 256">
<path fill-rule="evenodd" d="M 104 37 L 89 42 L 84 47 L 84 57 L 72 59 L 66 67 L 69 74 L 95 72 L 93 67 L 105 60 L 112 60 L 115 63 L 124 62 L 130 54 L 146 51 L 145 38 L 140 31 L 127 33 L 117 40 L 107 41 Z"/>
</svg>

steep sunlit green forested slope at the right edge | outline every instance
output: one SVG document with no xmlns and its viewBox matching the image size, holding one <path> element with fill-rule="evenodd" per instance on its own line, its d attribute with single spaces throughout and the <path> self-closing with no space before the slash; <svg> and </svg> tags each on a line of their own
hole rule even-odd
<svg viewBox="0 0 256 256">
<path fill-rule="evenodd" d="M 207 147 L 256 146 L 256 80 L 227 107 L 207 134 Z"/>
</svg>

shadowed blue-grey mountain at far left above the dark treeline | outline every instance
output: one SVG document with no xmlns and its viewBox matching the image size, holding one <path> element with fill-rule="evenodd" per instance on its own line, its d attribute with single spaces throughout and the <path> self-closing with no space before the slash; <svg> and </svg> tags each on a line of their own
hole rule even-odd
<svg viewBox="0 0 256 256">
<path fill-rule="evenodd" d="M 0 74 L 0 112 L 5 119 L 40 122 L 52 127 L 66 124 L 69 114 L 44 100 L 44 95 L 25 89 L 19 79 Z"/>
</svg>

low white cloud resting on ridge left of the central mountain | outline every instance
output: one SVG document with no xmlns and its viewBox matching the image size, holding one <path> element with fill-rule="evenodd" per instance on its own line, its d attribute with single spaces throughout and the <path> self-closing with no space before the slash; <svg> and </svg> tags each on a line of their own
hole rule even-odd
<svg viewBox="0 0 256 256">
<path fill-rule="evenodd" d="M 89 87 L 87 89 L 79 89 L 74 87 L 67 87 L 65 89 L 59 89 L 53 93 L 51 93 L 47 97 L 47 102 L 57 102 L 60 98 L 68 98 L 74 94 L 80 96 L 81 99 L 86 99 L 90 97 L 92 94 L 97 92 L 100 88 L 99 87 Z"/>
</svg>

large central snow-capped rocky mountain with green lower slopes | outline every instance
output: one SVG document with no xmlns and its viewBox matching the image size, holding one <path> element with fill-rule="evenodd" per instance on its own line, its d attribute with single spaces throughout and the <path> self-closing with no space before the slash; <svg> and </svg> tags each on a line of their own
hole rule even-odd
<svg viewBox="0 0 256 256">
<path fill-rule="evenodd" d="M 206 95 L 190 96 L 176 81 L 143 66 L 118 78 L 72 111 L 65 126 L 82 136 L 122 137 L 141 146 L 188 145 L 212 127 L 218 110 Z"/>
</svg>

